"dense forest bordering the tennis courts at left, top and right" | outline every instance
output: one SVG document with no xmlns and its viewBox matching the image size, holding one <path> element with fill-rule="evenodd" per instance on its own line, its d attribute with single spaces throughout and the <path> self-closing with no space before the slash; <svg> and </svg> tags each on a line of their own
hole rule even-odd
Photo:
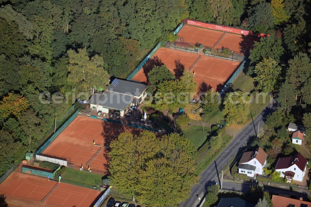
<svg viewBox="0 0 311 207">
<path fill-rule="evenodd" d="M 311 130 L 310 5 L 310 0 L 1 0 L 0 175 L 36 150 L 54 121 L 66 117 L 76 94 L 102 90 L 112 76 L 126 78 L 186 18 L 271 34 L 250 51 L 244 72 L 259 90 L 278 97 L 274 116 L 280 122 L 304 120 Z M 61 104 L 47 95 L 66 93 L 70 100 Z"/>
</svg>

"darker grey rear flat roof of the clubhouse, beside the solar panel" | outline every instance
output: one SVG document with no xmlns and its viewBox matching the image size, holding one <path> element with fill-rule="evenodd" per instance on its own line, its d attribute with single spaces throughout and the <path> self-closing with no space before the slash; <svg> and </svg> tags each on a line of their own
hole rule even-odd
<svg viewBox="0 0 311 207">
<path fill-rule="evenodd" d="M 124 81 L 117 79 L 119 83 L 114 86 L 112 83 L 108 86 L 108 91 L 113 91 L 121 94 L 140 96 L 146 90 L 146 85 L 132 81 Z"/>
</svg>

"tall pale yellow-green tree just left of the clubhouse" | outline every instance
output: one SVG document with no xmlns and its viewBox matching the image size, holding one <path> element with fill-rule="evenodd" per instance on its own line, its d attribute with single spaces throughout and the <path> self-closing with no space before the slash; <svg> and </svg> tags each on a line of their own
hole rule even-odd
<svg viewBox="0 0 311 207">
<path fill-rule="evenodd" d="M 78 93 L 88 93 L 91 88 L 105 90 L 109 84 L 109 75 L 104 70 L 103 58 L 95 55 L 89 58 L 86 48 L 78 49 L 78 53 L 70 49 L 69 56 L 68 84 L 75 88 Z M 84 97 L 88 98 L 88 97 Z"/>
</svg>

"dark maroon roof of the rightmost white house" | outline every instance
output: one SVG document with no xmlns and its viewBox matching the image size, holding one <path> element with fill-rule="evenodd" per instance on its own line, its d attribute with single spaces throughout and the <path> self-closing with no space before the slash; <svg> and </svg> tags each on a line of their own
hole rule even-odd
<svg viewBox="0 0 311 207">
<path fill-rule="evenodd" d="M 298 158 L 298 160 L 295 161 L 295 158 Z M 297 153 L 292 157 L 283 157 L 283 158 L 279 158 L 276 162 L 276 166 L 275 169 L 286 169 L 289 168 L 290 166 L 296 164 L 297 167 L 304 171 L 304 167 L 307 164 L 307 159 L 304 158 L 304 156 L 302 156 L 302 154 Z"/>
</svg>

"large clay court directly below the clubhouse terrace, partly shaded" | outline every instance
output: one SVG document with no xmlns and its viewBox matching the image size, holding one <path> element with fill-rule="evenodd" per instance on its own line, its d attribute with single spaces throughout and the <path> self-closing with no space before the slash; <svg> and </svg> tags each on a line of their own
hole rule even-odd
<svg viewBox="0 0 311 207">
<path fill-rule="evenodd" d="M 143 130 L 112 122 L 104 122 L 100 119 L 77 116 L 42 154 L 71 159 L 73 165 L 83 165 L 84 168 L 87 168 L 86 162 L 100 148 L 93 145 L 93 140 L 95 144 L 109 146 L 110 141 L 117 138 L 119 133 L 123 131 L 139 134 Z M 108 150 L 104 147 L 101 148 L 101 152 L 91 161 L 89 166 L 91 170 L 107 173 L 109 165 Z"/>
</svg>

